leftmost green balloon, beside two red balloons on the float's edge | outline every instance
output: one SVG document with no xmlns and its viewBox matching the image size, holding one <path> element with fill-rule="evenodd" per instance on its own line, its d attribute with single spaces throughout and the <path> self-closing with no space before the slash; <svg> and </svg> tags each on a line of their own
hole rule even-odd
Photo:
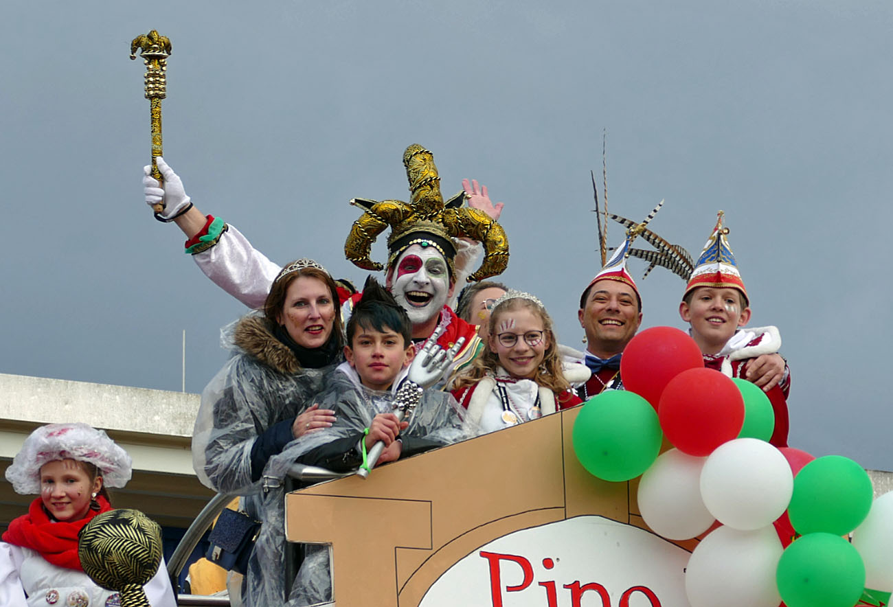
<svg viewBox="0 0 893 607">
<path fill-rule="evenodd" d="M 590 474 L 614 482 L 636 478 L 657 459 L 663 433 L 641 396 L 609 390 L 593 396 L 573 422 L 573 452 Z"/>
</svg>

